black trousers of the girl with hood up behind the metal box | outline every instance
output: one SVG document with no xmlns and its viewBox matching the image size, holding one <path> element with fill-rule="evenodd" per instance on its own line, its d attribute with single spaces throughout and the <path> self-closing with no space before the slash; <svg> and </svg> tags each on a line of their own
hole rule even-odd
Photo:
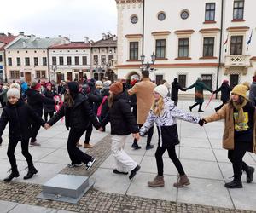
<svg viewBox="0 0 256 213">
<path fill-rule="evenodd" d="M 80 137 L 84 134 L 86 129 L 76 130 L 71 128 L 67 138 L 67 153 L 73 164 L 87 164 L 91 160 L 91 156 L 83 153 L 78 147 L 77 142 Z"/>
</svg>

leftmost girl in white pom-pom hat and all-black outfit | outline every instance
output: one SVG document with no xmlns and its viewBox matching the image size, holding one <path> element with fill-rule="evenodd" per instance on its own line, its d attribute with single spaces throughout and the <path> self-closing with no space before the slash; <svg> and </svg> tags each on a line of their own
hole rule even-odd
<svg viewBox="0 0 256 213">
<path fill-rule="evenodd" d="M 28 172 L 24 179 L 32 178 L 38 173 L 38 170 L 33 165 L 32 156 L 28 152 L 28 143 L 31 134 L 31 118 L 41 126 L 44 126 L 44 120 L 35 113 L 24 101 L 20 99 L 20 91 L 11 88 L 7 92 L 8 102 L 0 118 L 0 137 L 2 142 L 3 130 L 9 123 L 9 145 L 7 155 L 11 164 L 11 174 L 3 179 L 3 181 L 11 181 L 13 178 L 20 176 L 17 169 L 15 159 L 15 148 L 18 141 L 21 141 L 21 153 L 26 158 L 28 164 Z"/>
</svg>

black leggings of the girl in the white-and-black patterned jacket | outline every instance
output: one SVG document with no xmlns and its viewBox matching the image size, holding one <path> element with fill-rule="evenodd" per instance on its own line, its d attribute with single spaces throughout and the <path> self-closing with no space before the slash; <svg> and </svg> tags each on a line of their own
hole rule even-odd
<svg viewBox="0 0 256 213">
<path fill-rule="evenodd" d="M 156 159 L 157 164 L 157 171 L 159 176 L 164 175 L 164 163 L 163 163 L 163 154 L 166 152 L 166 149 L 169 154 L 169 158 L 172 159 L 173 164 L 175 165 L 178 174 L 180 176 L 185 175 L 185 172 L 183 170 L 183 165 L 180 163 L 179 159 L 177 158 L 176 152 L 175 152 L 175 146 L 173 147 L 157 147 L 156 152 L 154 154 L 154 157 Z"/>
</svg>

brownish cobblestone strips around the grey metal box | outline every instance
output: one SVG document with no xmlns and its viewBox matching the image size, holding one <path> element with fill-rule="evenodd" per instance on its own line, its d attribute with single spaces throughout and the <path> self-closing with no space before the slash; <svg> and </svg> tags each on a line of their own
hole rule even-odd
<svg viewBox="0 0 256 213">
<path fill-rule="evenodd" d="M 62 174 L 91 176 L 110 154 L 110 136 L 96 143 L 89 154 L 96 157 L 96 163 L 89 171 L 83 168 L 61 170 Z M 0 200 L 12 201 L 19 204 L 37 205 L 55 210 L 74 212 L 253 212 L 246 210 L 231 210 L 199 204 L 175 203 L 160 199 L 147 199 L 137 196 L 102 193 L 94 188 L 79 200 L 78 204 L 37 199 L 42 192 L 41 185 L 22 182 L 4 183 L 0 181 Z M 0 210 L 1 212 L 1 210 Z"/>
</svg>

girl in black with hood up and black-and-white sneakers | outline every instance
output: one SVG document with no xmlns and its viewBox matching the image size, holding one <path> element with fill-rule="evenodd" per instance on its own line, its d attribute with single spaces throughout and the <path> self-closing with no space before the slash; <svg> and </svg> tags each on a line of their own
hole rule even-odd
<svg viewBox="0 0 256 213">
<path fill-rule="evenodd" d="M 101 124 L 97 121 L 96 115 L 93 113 L 85 95 L 79 93 L 79 83 L 67 83 L 67 100 L 62 105 L 59 112 L 56 112 L 53 118 L 47 122 L 47 128 L 54 125 L 58 120 L 65 116 L 65 125 L 69 130 L 67 139 L 67 152 L 71 163 L 69 167 L 81 166 L 85 164 L 85 169 L 89 170 L 96 158 L 83 153 L 78 147 L 79 138 L 87 130 L 90 122 L 97 130 L 102 130 Z"/>
</svg>

